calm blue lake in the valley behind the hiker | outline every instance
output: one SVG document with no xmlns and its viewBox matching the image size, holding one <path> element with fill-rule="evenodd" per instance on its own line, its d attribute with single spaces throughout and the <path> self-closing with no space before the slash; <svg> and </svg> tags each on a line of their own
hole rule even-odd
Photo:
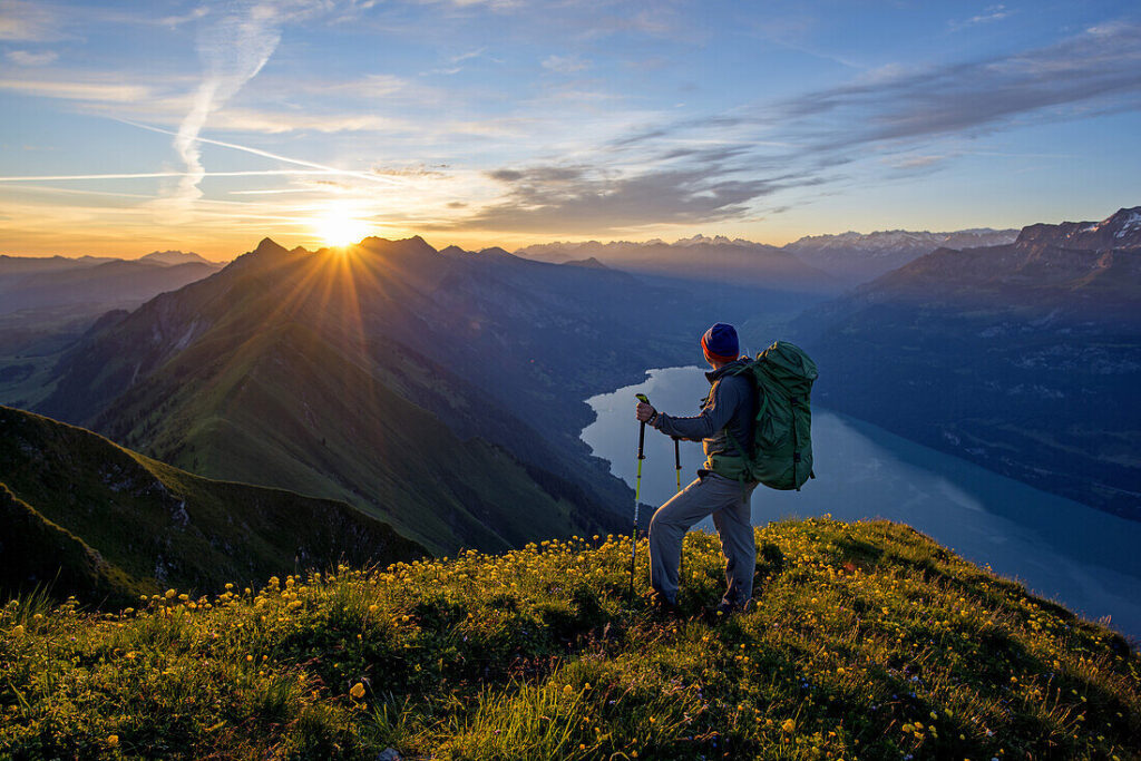
<svg viewBox="0 0 1141 761">
<path fill-rule="evenodd" d="M 598 418 L 582 431 L 610 471 L 634 485 L 634 394 L 671 414 L 696 414 L 709 381 L 698 367 L 650 370 L 644 382 L 588 399 Z M 817 478 L 801 492 L 759 487 L 753 523 L 832 513 L 841 520 L 887 518 L 914 526 L 961 556 L 1017 578 L 1087 618 L 1141 639 L 1141 523 L 1004 478 L 973 463 L 863 421 L 812 410 Z M 682 484 L 703 460 L 681 443 Z M 646 430 L 642 502 L 677 491 L 673 442 Z M 631 505 L 632 508 L 632 505 Z M 701 526 L 712 531 L 712 523 Z"/>
</svg>

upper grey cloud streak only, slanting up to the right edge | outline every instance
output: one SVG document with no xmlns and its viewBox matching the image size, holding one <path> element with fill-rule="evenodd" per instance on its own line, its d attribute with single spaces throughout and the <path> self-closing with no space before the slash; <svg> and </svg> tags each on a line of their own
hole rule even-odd
<svg viewBox="0 0 1141 761">
<path fill-rule="evenodd" d="M 1132 99 L 1130 99 L 1132 98 Z M 867 144 L 911 151 L 949 136 L 1009 129 L 1026 119 L 1068 119 L 1098 103 L 1141 99 L 1141 25 L 1107 24 L 1057 44 L 926 68 L 884 66 L 840 87 L 731 113 L 631 131 L 614 149 L 699 136 L 794 146 L 787 157 L 853 155 Z"/>
</svg>

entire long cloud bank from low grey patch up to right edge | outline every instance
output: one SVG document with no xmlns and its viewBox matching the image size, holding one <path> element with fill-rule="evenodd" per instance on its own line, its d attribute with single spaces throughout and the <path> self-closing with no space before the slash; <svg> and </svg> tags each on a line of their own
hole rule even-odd
<svg viewBox="0 0 1141 761">
<path fill-rule="evenodd" d="M 962 154 L 948 140 L 1081 118 L 1098 104 L 1141 105 L 1141 27 L 1107 24 L 1005 57 L 885 67 L 776 103 L 659 121 L 600 146 L 589 164 L 501 167 L 487 177 L 504 193 L 454 227 L 601 233 L 752 219 L 768 196 L 850 183 L 847 164 L 874 160 L 895 172 L 885 179 L 933 171 Z"/>
</svg>

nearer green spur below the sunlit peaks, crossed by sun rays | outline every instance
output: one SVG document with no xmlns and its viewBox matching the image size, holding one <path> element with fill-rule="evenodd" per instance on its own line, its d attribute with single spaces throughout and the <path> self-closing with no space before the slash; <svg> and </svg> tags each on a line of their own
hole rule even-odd
<svg viewBox="0 0 1141 761">
<path fill-rule="evenodd" d="M 299 323 L 200 341 L 105 419 L 116 440 L 165 461 L 350 502 L 435 552 L 608 525 L 501 448 L 460 440 L 359 355 Z"/>
</svg>

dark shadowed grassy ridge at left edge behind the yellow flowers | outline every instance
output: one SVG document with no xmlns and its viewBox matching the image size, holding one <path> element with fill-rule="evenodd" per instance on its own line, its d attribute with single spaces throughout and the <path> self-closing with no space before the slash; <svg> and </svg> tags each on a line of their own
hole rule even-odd
<svg viewBox="0 0 1141 761">
<path fill-rule="evenodd" d="M 130 604 L 424 552 L 342 502 L 200 478 L 49 418 L 0 406 L 0 591 Z"/>
</svg>

